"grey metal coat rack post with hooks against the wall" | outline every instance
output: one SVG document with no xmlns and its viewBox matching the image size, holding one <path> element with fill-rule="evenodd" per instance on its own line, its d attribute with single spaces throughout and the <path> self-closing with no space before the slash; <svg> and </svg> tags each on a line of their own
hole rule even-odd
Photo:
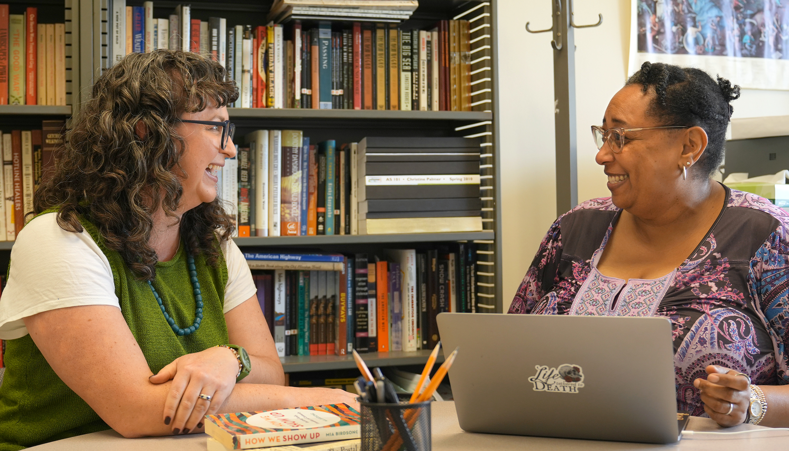
<svg viewBox="0 0 789 451">
<path fill-rule="evenodd" d="M 575 40 L 573 28 L 598 27 L 596 24 L 576 25 L 573 21 L 573 0 L 552 0 L 553 25 L 545 30 L 529 33 L 553 32 L 553 91 L 556 133 L 556 215 L 562 215 L 578 205 L 578 164 L 576 163 L 575 126 Z"/>
</svg>

